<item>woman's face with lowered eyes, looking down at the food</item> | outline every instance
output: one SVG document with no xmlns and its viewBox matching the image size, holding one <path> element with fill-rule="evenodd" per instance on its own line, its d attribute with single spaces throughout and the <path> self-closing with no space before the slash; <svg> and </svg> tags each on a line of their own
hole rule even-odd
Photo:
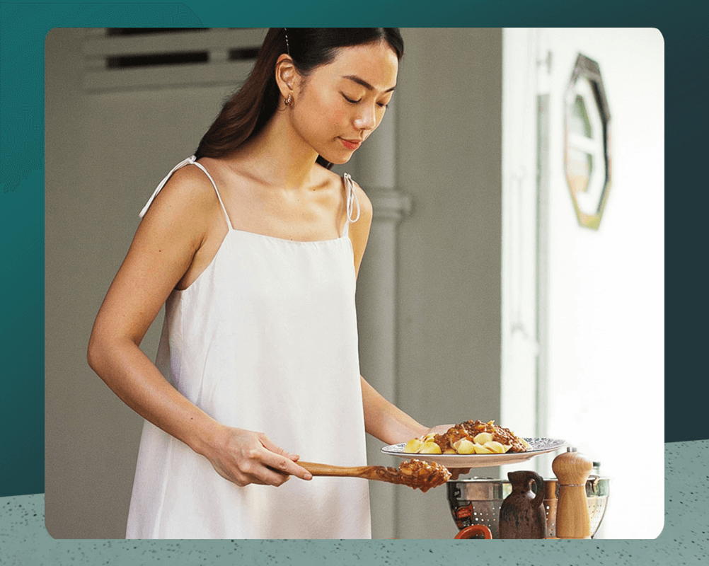
<svg viewBox="0 0 709 566">
<path fill-rule="evenodd" d="M 326 160 L 342 164 L 384 117 L 398 60 L 386 41 L 340 48 L 301 79 L 291 109 L 295 131 Z"/>
</svg>

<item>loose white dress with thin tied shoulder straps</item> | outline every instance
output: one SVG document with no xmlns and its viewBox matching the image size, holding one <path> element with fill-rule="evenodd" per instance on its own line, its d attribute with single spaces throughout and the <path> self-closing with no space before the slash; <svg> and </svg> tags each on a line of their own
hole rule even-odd
<svg viewBox="0 0 709 566">
<path fill-rule="evenodd" d="M 367 463 L 345 174 L 339 238 L 304 242 L 229 231 L 211 264 L 165 303 L 155 365 L 220 423 L 265 433 L 303 461 Z M 356 213 L 355 213 L 356 211 Z M 371 538 L 369 486 L 359 478 L 291 477 L 238 487 L 205 457 L 145 421 L 126 538 Z"/>
</svg>

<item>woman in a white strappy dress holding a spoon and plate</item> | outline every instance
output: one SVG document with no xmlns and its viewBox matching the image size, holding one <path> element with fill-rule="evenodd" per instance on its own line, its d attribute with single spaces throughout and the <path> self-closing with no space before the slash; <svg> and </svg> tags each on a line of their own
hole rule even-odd
<svg viewBox="0 0 709 566">
<path fill-rule="evenodd" d="M 298 458 L 362 465 L 365 430 L 432 430 L 359 375 L 372 206 L 329 170 L 379 126 L 402 53 L 396 28 L 269 30 L 141 213 L 89 343 L 146 419 L 128 538 L 369 538 L 367 482 L 311 482 Z M 162 304 L 154 365 L 138 346 Z"/>
</svg>

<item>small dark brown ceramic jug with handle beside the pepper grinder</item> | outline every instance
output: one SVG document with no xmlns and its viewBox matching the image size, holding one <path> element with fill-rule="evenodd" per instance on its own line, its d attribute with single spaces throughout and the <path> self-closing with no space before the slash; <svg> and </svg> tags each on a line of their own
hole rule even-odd
<svg viewBox="0 0 709 566">
<path fill-rule="evenodd" d="M 544 509 L 544 478 L 531 471 L 509 472 L 510 493 L 500 507 L 500 538 L 545 538 L 547 513 Z M 532 492 L 532 482 L 537 494 Z"/>
</svg>

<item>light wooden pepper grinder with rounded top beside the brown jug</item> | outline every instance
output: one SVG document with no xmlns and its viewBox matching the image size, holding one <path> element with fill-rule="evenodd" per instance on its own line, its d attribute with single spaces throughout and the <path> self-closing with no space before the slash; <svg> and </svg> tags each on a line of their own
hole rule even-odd
<svg viewBox="0 0 709 566">
<path fill-rule="evenodd" d="M 576 448 L 568 448 L 552 462 L 559 479 L 557 538 L 591 538 L 586 480 L 592 467 L 591 459 L 576 452 Z"/>
</svg>

